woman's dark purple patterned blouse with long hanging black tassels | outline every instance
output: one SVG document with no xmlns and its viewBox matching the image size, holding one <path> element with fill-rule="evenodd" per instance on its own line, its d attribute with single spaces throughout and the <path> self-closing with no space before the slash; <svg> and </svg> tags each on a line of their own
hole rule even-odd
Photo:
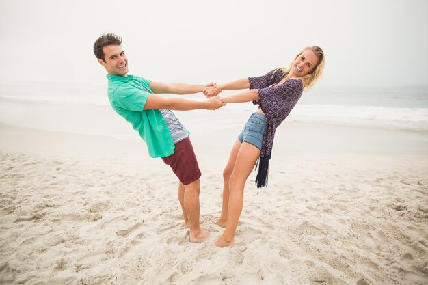
<svg viewBox="0 0 428 285">
<path fill-rule="evenodd" d="M 263 146 L 260 154 L 260 171 L 262 171 L 263 161 L 267 163 L 263 171 L 265 182 L 261 186 L 267 185 L 267 167 L 272 153 L 273 137 L 276 128 L 285 120 L 291 109 L 296 105 L 303 92 L 303 83 L 298 79 L 289 79 L 280 85 L 280 82 L 286 76 L 281 69 L 272 70 L 261 77 L 248 77 L 250 89 L 258 89 L 258 100 L 254 100 L 254 105 L 259 105 L 267 118 L 266 133 L 263 137 Z M 260 180 L 260 179 L 259 179 Z M 258 187 L 260 183 L 258 183 Z"/>
</svg>

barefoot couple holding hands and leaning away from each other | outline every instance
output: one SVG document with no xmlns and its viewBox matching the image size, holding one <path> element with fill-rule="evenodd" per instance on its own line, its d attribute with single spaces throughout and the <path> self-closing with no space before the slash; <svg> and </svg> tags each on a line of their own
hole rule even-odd
<svg viewBox="0 0 428 285">
<path fill-rule="evenodd" d="M 321 77 L 325 62 L 323 50 L 318 46 L 307 47 L 288 68 L 277 68 L 261 77 L 245 77 L 225 84 L 189 85 L 155 82 L 128 74 L 128 58 L 121 44 L 122 38 L 113 33 L 103 34 L 94 43 L 94 54 L 108 73 L 109 101 L 146 141 L 150 157 L 161 157 L 178 177 L 178 200 L 191 242 L 202 242 L 209 237 L 209 232 L 200 228 L 199 221 L 201 172 L 189 133 L 170 110 L 213 110 L 226 103 L 249 101 L 258 105 L 258 111 L 250 116 L 232 146 L 223 172 L 222 213 L 216 223 L 225 230 L 215 245 L 233 246 L 243 208 L 245 182 L 258 161 L 257 187 L 267 186 L 276 128 L 289 115 L 303 90 L 309 90 Z M 222 90 L 245 91 L 220 98 L 218 94 Z M 208 100 L 159 96 L 198 92 L 204 92 Z"/>
</svg>

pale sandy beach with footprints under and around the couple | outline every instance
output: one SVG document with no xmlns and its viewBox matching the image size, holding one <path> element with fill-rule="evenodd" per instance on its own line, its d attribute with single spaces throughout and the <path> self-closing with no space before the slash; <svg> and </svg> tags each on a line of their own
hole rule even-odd
<svg viewBox="0 0 428 285">
<path fill-rule="evenodd" d="M 248 113 L 177 113 L 211 232 L 189 243 L 176 177 L 108 106 L 0 103 L 0 284 L 428 282 L 426 130 L 284 122 L 269 187 L 250 175 L 220 249 L 222 169 Z"/>
</svg>

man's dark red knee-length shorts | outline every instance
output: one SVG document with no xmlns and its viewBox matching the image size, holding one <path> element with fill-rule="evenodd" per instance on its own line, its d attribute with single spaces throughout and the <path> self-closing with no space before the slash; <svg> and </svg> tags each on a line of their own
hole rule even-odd
<svg viewBox="0 0 428 285">
<path fill-rule="evenodd" d="M 165 164 L 170 165 L 172 172 L 178 177 L 183 185 L 188 185 L 196 181 L 202 175 L 199 170 L 190 137 L 178 141 L 175 145 L 174 154 L 169 157 L 162 157 Z"/>
</svg>

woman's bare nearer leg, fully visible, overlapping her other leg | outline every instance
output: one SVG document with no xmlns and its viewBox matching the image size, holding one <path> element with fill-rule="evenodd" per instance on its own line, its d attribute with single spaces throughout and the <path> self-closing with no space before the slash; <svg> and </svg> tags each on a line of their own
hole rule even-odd
<svg viewBox="0 0 428 285">
<path fill-rule="evenodd" d="M 235 245 L 235 231 L 243 208 L 243 189 L 258 157 L 260 157 L 260 150 L 256 146 L 246 142 L 241 144 L 229 180 L 230 195 L 226 229 L 215 242 L 218 247 Z"/>
</svg>

